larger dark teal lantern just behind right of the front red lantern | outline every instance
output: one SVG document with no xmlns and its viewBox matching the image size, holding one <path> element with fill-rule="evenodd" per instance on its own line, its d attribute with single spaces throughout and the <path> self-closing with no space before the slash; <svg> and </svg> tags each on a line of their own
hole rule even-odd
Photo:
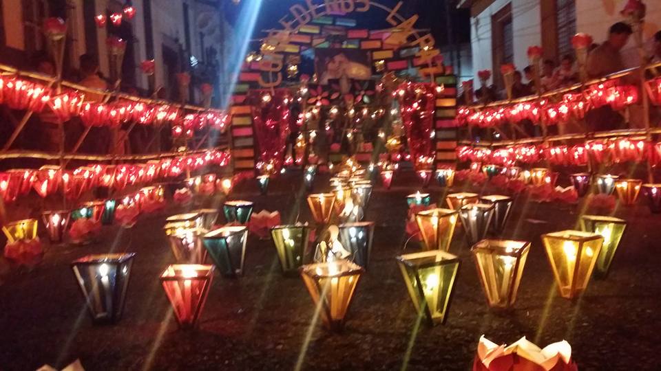
<svg viewBox="0 0 661 371">
<path fill-rule="evenodd" d="M 204 247 L 223 276 L 235 277 L 243 274 L 247 240 L 244 226 L 220 227 L 204 235 Z"/>
</svg>

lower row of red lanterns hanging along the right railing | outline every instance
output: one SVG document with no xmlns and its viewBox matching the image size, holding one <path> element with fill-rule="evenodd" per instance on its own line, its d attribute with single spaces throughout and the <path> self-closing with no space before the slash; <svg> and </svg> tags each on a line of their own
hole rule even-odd
<svg viewBox="0 0 661 371">
<path fill-rule="evenodd" d="M 644 139 L 605 139 L 576 144 L 574 146 L 525 144 L 506 148 L 457 148 L 460 161 L 486 162 L 510 166 L 516 163 L 534 164 L 549 161 L 560 166 L 584 166 L 593 159 L 598 164 L 649 161 L 652 166 L 661 163 L 661 142 Z"/>
</svg>

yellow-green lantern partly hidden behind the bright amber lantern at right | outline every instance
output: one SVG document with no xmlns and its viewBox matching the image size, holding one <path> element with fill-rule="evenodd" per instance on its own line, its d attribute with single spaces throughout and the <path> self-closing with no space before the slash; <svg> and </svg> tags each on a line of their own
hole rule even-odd
<svg viewBox="0 0 661 371">
<path fill-rule="evenodd" d="M 607 276 L 626 228 L 627 221 L 620 218 L 600 215 L 583 215 L 580 217 L 581 230 L 599 234 L 604 238 L 604 243 L 594 266 L 594 276 L 596 278 Z"/>
</svg>

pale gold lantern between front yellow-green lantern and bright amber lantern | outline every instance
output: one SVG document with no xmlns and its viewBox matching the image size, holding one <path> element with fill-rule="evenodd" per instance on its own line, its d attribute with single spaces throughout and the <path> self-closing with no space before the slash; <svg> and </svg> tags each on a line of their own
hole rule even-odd
<svg viewBox="0 0 661 371">
<path fill-rule="evenodd" d="M 529 249 L 529 242 L 514 240 L 481 240 L 470 249 L 492 308 L 514 304 Z"/>
</svg>

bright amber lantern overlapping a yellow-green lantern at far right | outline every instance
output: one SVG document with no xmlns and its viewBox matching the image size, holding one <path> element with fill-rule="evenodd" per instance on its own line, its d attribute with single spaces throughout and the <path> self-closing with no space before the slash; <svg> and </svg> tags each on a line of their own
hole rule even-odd
<svg viewBox="0 0 661 371">
<path fill-rule="evenodd" d="M 583 293 L 604 238 L 596 233 L 566 230 L 543 234 L 542 241 L 560 295 L 573 299 Z"/>
</svg>

